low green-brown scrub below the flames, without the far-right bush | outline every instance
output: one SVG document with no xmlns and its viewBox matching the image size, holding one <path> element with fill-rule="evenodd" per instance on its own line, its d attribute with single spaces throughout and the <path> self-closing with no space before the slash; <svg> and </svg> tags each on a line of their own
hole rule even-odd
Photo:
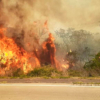
<svg viewBox="0 0 100 100">
<path fill-rule="evenodd" d="M 34 70 L 24 74 L 21 69 L 17 69 L 12 71 L 12 74 L 8 74 L 8 76 L 0 77 L 0 78 L 31 78 L 31 77 L 41 77 L 41 78 L 59 78 L 59 79 L 66 79 L 70 77 L 83 77 L 84 74 L 80 70 L 73 70 L 69 69 L 66 71 L 58 71 L 57 69 L 50 67 L 50 66 L 42 66 L 40 68 L 35 68 Z"/>
</svg>

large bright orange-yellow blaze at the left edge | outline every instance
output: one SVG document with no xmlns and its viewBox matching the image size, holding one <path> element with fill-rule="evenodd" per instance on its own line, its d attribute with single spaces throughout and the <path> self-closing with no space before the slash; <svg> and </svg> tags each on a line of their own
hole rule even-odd
<svg viewBox="0 0 100 100">
<path fill-rule="evenodd" d="M 32 53 L 26 52 L 23 48 L 18 47 L 14 39 L 7 38 L 4 33 L 5 28 L 0 28 L 0 63 L 5 65 L 5 70 L 10 70 L 11 67 L 21 68 L 24 73 L 32 70 L 32 65 L 29 62 L 29 58 Z M 40 66 L 40 63 L 36 57 L 36 65 Z"/>
</svg>

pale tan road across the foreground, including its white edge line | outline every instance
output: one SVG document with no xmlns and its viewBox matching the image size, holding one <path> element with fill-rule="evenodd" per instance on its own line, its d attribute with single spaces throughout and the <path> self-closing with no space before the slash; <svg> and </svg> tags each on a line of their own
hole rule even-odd
<svg viewBox="0 0 100 100">
<path fill-rule="evenodd" d="M 100 100 L 99 86 L 0 84 L 0 100 Z"/>
</svg>

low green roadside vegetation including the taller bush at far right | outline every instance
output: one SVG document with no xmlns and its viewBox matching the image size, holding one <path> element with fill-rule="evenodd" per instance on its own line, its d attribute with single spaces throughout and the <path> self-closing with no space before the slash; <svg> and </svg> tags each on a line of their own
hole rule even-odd
<svg viewBox="0 0 100 100">
<path fill-rule="evenodd" d="M 98 54 L 97 54 L 98 55 Z M 96 55 L 96 57 L 97 57 Z M 13 71 L 12 74 L 0 77 L 0 78 L 32 78 L 32 77 L 41 77 L 41 78 L 59 78 L 59 79 L 67 79 L 71 77 L 81 77 L 81 78 L 89 78 L 89 77 L 100 77 L 100 62 L 95 58 L 92 61 L 85 64 L 84 68 L 81 69 L 68 69 L 66 71 L 58 71 L 57 69 L 50 67 L 50 66 L 44 66 L 40 68 L 35 68 L 34 70 L 28 72 L 27 74 L 24 74 L 24 72 L 21 69 L 17 69 L 16 71 Z"/>
</svg>

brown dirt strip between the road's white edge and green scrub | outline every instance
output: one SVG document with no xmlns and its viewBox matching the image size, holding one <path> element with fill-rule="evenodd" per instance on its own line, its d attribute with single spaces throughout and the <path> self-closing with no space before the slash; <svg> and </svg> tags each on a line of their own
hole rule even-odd
<svg viewBox="0 0 100 100">
<path fill-rule="evenodd" d="M 0 83 L 66 83 L 66 84 L 100 84 L 99 78 L 81 79 L 44 79 L 44 78 L 24 78 L 24 79 L 0 79 Z"/>
</svg>

